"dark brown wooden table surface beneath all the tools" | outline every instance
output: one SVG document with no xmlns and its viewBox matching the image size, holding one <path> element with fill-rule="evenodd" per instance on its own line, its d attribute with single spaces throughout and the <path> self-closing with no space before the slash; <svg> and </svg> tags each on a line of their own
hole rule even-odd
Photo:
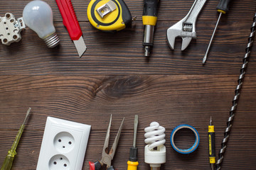
<svg viewBox="0 0 256 170">
<path fill-rule="evenodd" d="M 36 169 L 47 116 L 92 125 L 83 165 L 83 169 L 89 169 L 88 161 L 100 159 L 110 114 L 110 144 L 125 117 L 112 162 L 117 169 L 127 169 L 135 114 L 139 115 L 139 169 L 149 169 L 144 163 L 144 128 L 152 121 L 166 128 L 166 164 L 161 169 L 210 169 L 208 123 L 212 116 L 218 152 L 256 1 L 232 2 L 230 12 L 221 18 L 204 67 L 201 62 L 218 19 L 217 0 L 206 2 L 196 23 L 198 38 L 184 51 L 170 50 L 166 30 L 186 16 L 193 0 L 161 0 L 149 60 L 142 47 L 143 1 L 126 0 L 137 21 L 132 28 L 116 34 L 92 28 L 87 19 L 89 1 L 72 1 L 87 45 L 82 58 L 78 57 L 53 0 L 47 2 L 53 8 L 54 25 L 61 40 L 58 47 L 48 49 L 29 28 L 21 33 L 20 42 L 0 45 L 0 162 L 31 107 L 33 115 L 18 145 L 13 169 Z M 28 0 L 1 1 L 0 15 L 10 12 L 21 17 L 27 3 Z M 255 66 L 256 47 L 252 47 L 223 169 L 256 169 Z M 188 155 L 174 151 L 169 141 L 171 131 L 180 124 L 192 125 L 201 137 L 198 149 Z"/>
</svg>

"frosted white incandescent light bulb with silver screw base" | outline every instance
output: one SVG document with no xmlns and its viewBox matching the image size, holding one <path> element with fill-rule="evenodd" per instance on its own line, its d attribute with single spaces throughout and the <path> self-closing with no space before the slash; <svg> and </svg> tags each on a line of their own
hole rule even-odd
<svg viewBox="0 0 256 170">
<path fill-rule="evenodd" d="M 23 20 L 29 28 L 35 31 L 50 48 L 56 47 L 60 39 L 53 26 L 53 11 L 41 0 L 29 2 L 23 9 Z"/>
</svg>

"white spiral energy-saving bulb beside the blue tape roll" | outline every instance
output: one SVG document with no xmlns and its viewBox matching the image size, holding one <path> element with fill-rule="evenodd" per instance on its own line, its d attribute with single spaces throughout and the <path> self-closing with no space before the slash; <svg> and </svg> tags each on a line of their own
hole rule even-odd
<svg viewBox="0 0 256 170">
<path fill-rule="evenodd" d="M 147 144 L 144 150 L 144 160 L 150 164 L 151 170 L 159 170 L 161 164 L 166 162 L 165 128 L 157 122 L 152 122 L 144 130 L 146 132 L 144 141 Z"/>
</svg>

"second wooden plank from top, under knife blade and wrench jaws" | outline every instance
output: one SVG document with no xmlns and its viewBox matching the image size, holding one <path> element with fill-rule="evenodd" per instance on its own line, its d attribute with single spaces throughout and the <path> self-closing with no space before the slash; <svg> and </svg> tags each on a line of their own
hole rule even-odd
<svg viewBox="0 0 256 170">
<path fill-rule="evenodd" d="M 0 45 L 1 75 L 78 75 L 78 74 L 238 74 L 245 55 L 247 37 L 252 22 L 220 23 L 205 67 L 202 67 L 210 35 L 212 21 L 199 21 L 198 39 L 192 40 L 184 51 L 172 51 L 166 42 L 166 29 L 174 22 L 159 22 L 151 57 L 144 57 L 142 47 L 143 26 L 122 30 L 117 34 L 102 33 L 82 23 L 87 51 L 80 59 L 75 45 L 62 23 L 57 33 L 60 46 L 49 49 L 36 33 L 28 29 L 22 33 L 21 42 L 10 46 Z M 208 29 L 210 27 L 210 29 Z M 181 41 L 176 40 L 176 49 Z M 15 50 L 14 50 L 15 49 Z M 250 65 L 255 64 L 255 47 L 252 48 Z M 249 74 L 255 74 L 250 67 Z"/>
</svg>

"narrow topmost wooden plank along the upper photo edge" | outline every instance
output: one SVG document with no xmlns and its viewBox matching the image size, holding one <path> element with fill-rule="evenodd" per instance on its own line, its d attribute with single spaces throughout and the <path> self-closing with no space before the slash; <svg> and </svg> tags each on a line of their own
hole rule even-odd
<svg viewBox="0 0 256 170">
<path fill-rule="evenodd" d="M 5 13 L 14 13 L 14 16 L 21 17 L 23 8 L 28 4 L 30 0 L 16 0 L 2 1 L 0 14 L 4 16 Z M 169 1 L 161 0 L 159 4 L 159 21 L 179 21 L 186 16 L 191 8 L 194 0 L 181 0 L 181 1 Z M 53 9 L 54 21 L 62 21 L 58 6 L 54 0 L 46 0 L 46 2 Z M 88 21 L 87 19 L 87 6 L 90 1 L 72 0 L 75 13 L 78 16 L 79 21 Z M 142 21 L 143 1 L 126 0 L 125 3 L 129 7 L 132 16 L 137 16 L 138 21 Z M 216 12 L 216 6 L 218 0 L 207 1 L 204 6 L 199 20 L 204 21 L 216 21 L 218 13 Z M 227 16 L 223 17 L 223 20 L 230 21 L 250 21 L 255 13 L 256 1 L 252 0 L 238 0 L 230 3 L 230 11 Z"/>
</svg>

